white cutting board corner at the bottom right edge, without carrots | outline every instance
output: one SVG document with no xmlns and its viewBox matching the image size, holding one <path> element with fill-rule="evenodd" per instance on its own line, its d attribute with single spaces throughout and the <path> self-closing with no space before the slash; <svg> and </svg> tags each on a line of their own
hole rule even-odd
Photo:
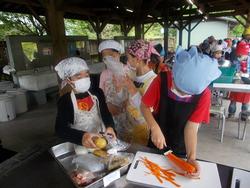
<svg viewBox="0 0 250 188">
<path fill-rule="evenodd" d="M 231 188 L 236 188 L 236 180 L 239 180 L 239 188 L 249 188 L 250 172 L 234 168 Z"/>
</svg>

